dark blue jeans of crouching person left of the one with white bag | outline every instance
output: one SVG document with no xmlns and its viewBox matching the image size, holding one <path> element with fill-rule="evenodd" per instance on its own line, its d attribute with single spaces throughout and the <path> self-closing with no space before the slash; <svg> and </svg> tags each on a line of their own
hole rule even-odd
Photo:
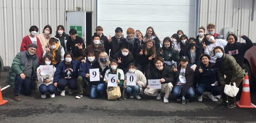
<svg viewBox="0 0 256 123">
<path fill-rule="evenodd" d="M 201 96 L 204 92 L 212 92 L 212 95 L 221 95 L 221 88 L 219 86 L 212 86 L 208 84 L 198 83 L 198 87 L 195 89 L 195 94 Z"/>
</svg>

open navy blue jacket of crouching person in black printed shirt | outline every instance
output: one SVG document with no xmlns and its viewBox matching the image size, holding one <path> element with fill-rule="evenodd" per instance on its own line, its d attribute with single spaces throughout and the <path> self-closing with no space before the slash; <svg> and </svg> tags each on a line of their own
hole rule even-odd
<svg viewBox="0 0 256 123">
<path fill-rule="evenodd" d="M 76 79 L 78 77 L 78 68 L 80 65 L 80 62 L 72 60 L 71 61 L 72 65 L 73 65 L 73 78 Z M 64 78 L 64 70 L 66 69 L 65 66 L 65 60 L 63 60 L 60 64 L 58 64 L 58 66 L 56 67 L 56 71 L 54 73 L 54 77 L 53 77 L 53 82 L 58 82 L 61 78 Z"/>
</svg>

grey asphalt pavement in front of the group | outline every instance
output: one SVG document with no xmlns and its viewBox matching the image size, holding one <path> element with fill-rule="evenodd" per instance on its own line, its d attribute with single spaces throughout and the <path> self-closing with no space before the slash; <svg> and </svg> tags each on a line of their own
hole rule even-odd
<svg viewBox="0 0 256 123">
<path fill-rule="evenodd" d="M 1 88 L 6 84 L 7 72 L 0 77 Z M 203 102 L 192 99 L 185 105 L 170 97 L 169 103 L 155 97 L 142 95 L 141 100 L 126 99 L 109 101 L 99 97 L 84 96 L 75 99 L 74 94 L 42 99 L 39 92 L 21 95 L 21 101 L 13 100 L 13 87 L 2 91 L 3 99 L 9 102 L 0 106 L 0 123 L 169 123 L 169 122 L 256 122 L 256 109 L 227 109 L 203 98 Z M 256 92 L 251 92 L 252 103 L 256 104 Z"/>
</svg>

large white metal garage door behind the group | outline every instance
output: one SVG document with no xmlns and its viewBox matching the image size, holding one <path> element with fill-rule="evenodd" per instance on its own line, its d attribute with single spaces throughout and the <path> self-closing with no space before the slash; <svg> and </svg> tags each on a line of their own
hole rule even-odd
<svg viewBox="0 0 256 123">
<path fill-rule="evenodd" d="M 181 29 L 195 36 L 195 0 L 97 0 L 97 25 L 108 36 L 116 27 L 139 29 L 145 35 L 152 26 L 160 40 Z"/>
</svg>

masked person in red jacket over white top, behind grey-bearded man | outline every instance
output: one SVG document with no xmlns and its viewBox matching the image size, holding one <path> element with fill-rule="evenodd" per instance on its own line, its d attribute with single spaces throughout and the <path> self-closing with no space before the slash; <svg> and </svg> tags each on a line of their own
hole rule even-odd
<svg viewBox="0 0 256 123">
<path fill-rule="evenodd" d="M 38 27 L 35 25 L 32 25 L 29 28 L 29 32 L 30 32 L 30 34 L 23 37 L 23 39 L 22 39 L 22 42 L 20 45 L 20 52 L 28 50 L 28 46 L 30 44 L 37 45 L 38 49 L 36 50 L 36 54 L 39 58 L 39 63 L 41 63 L 41 61 L 43 59 L 44 50 L 42 48 L 40 40 L 38 39 L 38 37 L 36 37 L 37 32 L 38 32 Z"/>
</svg>

